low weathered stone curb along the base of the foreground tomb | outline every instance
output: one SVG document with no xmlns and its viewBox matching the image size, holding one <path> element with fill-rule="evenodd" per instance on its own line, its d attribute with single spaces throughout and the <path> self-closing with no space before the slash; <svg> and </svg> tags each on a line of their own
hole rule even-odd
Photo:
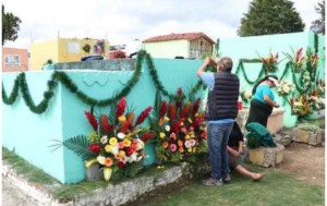
<svg viewBox="0 0 327 206">
<path fill-rule="evenodd" d="M 173 191 L 187 185 L 191 179 L 209 171 L 208 163 L 193 167 L 182 162 L 180 166 L 173 166 L 150 177 L 140 177 L 116 185 L 109 183 L 105 189 L 81 194 L 72 199 L 55 199 L 49 190 L 27 182 L 9 163 L 2 161 L 2 175 L 39 206 L 143 205 L 158 195 L 173 193 Z"/>
</svg>

